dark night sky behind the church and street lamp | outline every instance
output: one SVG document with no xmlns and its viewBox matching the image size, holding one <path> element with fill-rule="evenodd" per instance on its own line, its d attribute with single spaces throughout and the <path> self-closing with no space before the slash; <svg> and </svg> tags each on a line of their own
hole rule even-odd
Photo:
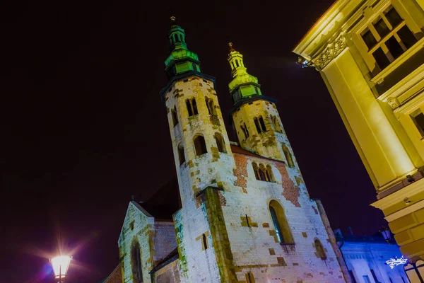
<svg viewBox="0 0 424 283">
<path fill-rule="evenodd" d="M 53 282 L 47 258 L 73 250 L 71 283 L 117 265 L 131 195 L 175 174 L 159 91 L 169 9 L 228 113 L 228 41 L 278 110 L 311 197 L 334 228 L 375 233 L 375 190 L 319 73 L 292 48 L 325 1 L 13 1 L 0 12 L 0 281 Z M 224 116 L 227 124 L 228 115 Z M 231 132 L 230 127 L 227 127 Z M 230 138 L 234 140 L 232 133 Z"/>
</svg>

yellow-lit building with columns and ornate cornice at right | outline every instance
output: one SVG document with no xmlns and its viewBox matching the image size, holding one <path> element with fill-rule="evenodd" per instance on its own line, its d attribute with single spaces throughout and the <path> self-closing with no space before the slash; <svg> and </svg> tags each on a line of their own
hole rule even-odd
<svg viewBox="0 0 424 283">
<path fill-rule="evenodd" d="M 410 262 L 424 259 L 423 9 L 338 0 L 293 50 L 324 79 Z"/>
</svg>

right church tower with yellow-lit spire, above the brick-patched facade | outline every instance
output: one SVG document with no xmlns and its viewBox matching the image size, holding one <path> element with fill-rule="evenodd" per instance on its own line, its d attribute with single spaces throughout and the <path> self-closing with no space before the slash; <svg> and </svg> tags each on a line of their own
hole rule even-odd
<svg viewBox="0 0 424 283">
<path fill-rule="evenodd" d="M 232 43 L 229 45 L 232 81 L 228 87 L 234 101 L 231 115 L 240 145 L 261 156 L 285 161 L 289 168 L 297 168 L 276 100 L 262 95 L 257 77 L 247 73 L 243 55 Z"/>
</svg>

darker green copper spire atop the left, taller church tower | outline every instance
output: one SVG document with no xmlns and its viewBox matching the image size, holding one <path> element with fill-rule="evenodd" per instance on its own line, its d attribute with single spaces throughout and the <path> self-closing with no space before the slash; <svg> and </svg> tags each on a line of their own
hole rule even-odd
<svg viewBox="0 0 424 283">
<path fill-rule="evenodd" d="M 168 37 L 171 44 L 171 54 L 165 60 L 168 79 L 187 71 L 200 72 L 199 57 L 187 49 L 184 30 L 177 25 L 175 16 L 171 17 L 171 29 Z"/>
</svg>

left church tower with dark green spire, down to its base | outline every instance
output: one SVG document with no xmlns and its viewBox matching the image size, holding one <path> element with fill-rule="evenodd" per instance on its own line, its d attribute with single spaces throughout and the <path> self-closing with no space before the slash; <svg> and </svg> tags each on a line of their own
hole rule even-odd
<svg viewBox="0 0 424 283">
<path fill-rule="evenodd" d="M 235 163 L 215 78 L 201 72 L 184 30 L 175 17 L 171 21 L 171 54 L 165 60 L 168 82 L 160 95 L 167 108 L 182 203 L 174 215 L 181 275 L 191 282 L 234 282 L 232 260 L 225 255 L 229 243 L 220 196 Z"/>
</svg>

